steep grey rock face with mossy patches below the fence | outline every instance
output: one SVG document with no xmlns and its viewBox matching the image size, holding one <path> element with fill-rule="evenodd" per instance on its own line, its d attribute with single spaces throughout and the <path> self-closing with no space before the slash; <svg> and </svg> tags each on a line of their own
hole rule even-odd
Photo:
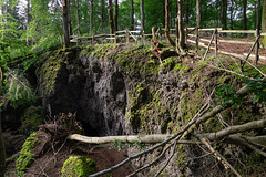
<svg viewBox="0 0 266 177">
<path fill-rule="evenodd" d="M 91 136 L 175 133 L 201 110 L 214 86 L 241 86 L 239 79 L 206 67 L 193 56 L 167 56 L 160 63 L 151 51 L 149 46 L 101 45 L 55 52 L 38 70 L 47 114 L 72 112 Z M 234 119 L 231 111 L 223 116 L 237 124 L 238 116 L 254 115 L 246 110 L 244 105 L 235 108 Z M 211 119 L 201 128 L 215 132 L 221 126 Z M 142 167 L 158 154 L 133 163 Z M 203 154 L 198 146 L 180 145 L 164 175 L 223 175 L 212 157 L 196 158 Z M 163 165 L 156 163 L 146 176 Z"/>
</svg>

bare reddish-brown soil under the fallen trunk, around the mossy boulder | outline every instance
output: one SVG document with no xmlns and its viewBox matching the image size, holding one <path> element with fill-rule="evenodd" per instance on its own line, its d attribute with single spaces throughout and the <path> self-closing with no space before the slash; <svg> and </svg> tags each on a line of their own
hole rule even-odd
<svg viewBox="0 0 266 177">
<path fill-rule="evenodd" d="M 60 177 L 64 162 L 70 156 L 75 155 L 93 159 L 96 164 L 96 171 L 106 169 L 126 158 L 126 149 L 119 150 L 112 145 L 98 146 L 70 140 L 59 143 L 53 142 L 47 133 L 38 133 L 38 138 L 41 143 L 32 149 L 32 153 L 37 155 L 37 158 L 29 169 L 27 169 L 25 177 Z M 8 165 L 9 171 L 7 173 L 7 176 L 18 176 L 17 171 L 13 170 L 14 168 L 14 162 L 10 163 Z M 112 176 L 121 177 L 131 173 L 133 173 L 132 167 L 127 164 L 123 166 L 123 168 L 114 170 Z"/>
</svg>

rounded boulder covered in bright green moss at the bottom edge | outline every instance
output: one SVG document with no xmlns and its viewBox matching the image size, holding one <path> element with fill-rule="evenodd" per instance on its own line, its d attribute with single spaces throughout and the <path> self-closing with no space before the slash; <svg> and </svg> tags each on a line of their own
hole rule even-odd
<svg viewBox="0 0 266 177">
<path fill-rule="evenodd" d="M 83 156 L 70 156 L 63 164 L 62 177 L 88 177 L 95 173 L 95 162 Z"/>
</svg>

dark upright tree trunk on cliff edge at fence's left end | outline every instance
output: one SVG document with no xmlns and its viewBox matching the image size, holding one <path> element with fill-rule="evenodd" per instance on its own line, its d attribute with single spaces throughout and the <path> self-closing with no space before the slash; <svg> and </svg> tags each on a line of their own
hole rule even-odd
<svg viewBox="0 0 266 177">
<path fill-rule="evenodd" d="M 63 0 L 62 2 L 63 7 L 62 7 L 62 12 L 63 12 L 63 39 L 64 39 L 64 48 L 69 48 L 70 46 L 70 37 L 69 37 L 69 20 L 68 20 L 68 0 Z"/>
</svg>

